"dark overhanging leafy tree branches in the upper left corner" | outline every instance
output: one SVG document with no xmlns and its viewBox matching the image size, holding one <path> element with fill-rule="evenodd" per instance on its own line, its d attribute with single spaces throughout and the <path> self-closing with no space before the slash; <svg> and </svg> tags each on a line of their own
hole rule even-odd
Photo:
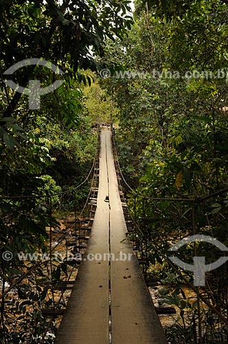
<svg viewBox="0 0 228 344">
<path fill-rule="evenodd" d="M 128 3 L 65 0 L 60 5 L 54 0 L 1 1 L 1 74 L 27 58 L 59 63 L 70 75 L 76 75 L 78 67 L 98 70 L 92 54 L 102 54 L 106 37 L 122 36 L 126 25 L 130 25 L 131 18 L 125 14 L 130 10 Z M 28 68 L 16 80 L 25 86 L 33 74 L 34 67 Z M 5 96 L 8 106 L 3 111 L 4 117 L 8 117 L 21 94 L 16 92 L 11 100 L 8 92 Z"/>
</svg>

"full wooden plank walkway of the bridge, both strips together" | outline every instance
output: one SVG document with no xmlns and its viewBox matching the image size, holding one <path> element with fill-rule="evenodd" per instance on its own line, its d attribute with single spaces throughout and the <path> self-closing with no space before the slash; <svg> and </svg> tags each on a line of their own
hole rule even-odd
<svg viewBox="0 0 228 344">
<path fill-rule="evenodd" d="M 56 344 L 167 344 L 126 231 L 111 132 L 102 131 L 98 207 Z"/>
</svg>

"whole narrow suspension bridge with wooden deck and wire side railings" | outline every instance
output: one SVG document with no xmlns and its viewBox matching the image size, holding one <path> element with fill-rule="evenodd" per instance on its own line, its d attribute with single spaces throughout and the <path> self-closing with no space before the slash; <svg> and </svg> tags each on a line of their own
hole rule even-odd
<svg viewBox="0 0 228 344">
<path fill-rule="evenodd" d="M 56 194 L 47 192 L 42 195 L 23 194 L 0 197 L 1 215 L 5 228 L 16 228 L 16 221 L 19 221 L 16 215 L 21 214 L 14 214 L 14 218 L 9 217 L 8 207 L 5 205 L 16 203 L 16 207 L 19 208 L 26 202 L 28 203 L 26 209 L 30 216 L 30 208 L 33 209 L 36 204 L 42 204 L 45 199 L 47 214 L 45 215 L 46 225 L 43 229 L 49 235 L 48 255 L 45 255 L 43 259 L 37 261 L 25 259 L 21 265 L 21 260 L 20 264 L 16 260 L 18 251 L 14 252 L 15 259 L 12 260 L 5 260 L 2 255 L 0 331 L 12 327 L 11 318 L 4 314 L 9 314 L 11 310 L 14 312 L 15 308 L 11 305 L 14 305 L 15 295 L 18 293 L 18 301 L 16 301 L 18 311 L 12 315 L 14 321 L 20 323 L 27 319 L 34 319 L 34 314 L 38 314 L 38 319 L 43 319 L 43 321 L 47 318 L 47 321 L 44 321 L 43 332 L 36 334 L 34 331 L 34 335 L 30 338 L 32 342 L 38 337 L 38 343 L 44 344 L 51 334 L 56 336 L 55 344 L 65 342 L 69 344 L 167 344 L 157 314 L 174 314 L 175 310 L 172 307 L 157 308 L 153 305 L 147 286 L 155 286 L 157 281 L 146 280 L 145 283 L 143 277 L 150 264 L 148 252 L 153 250 L 196 294 L 198 327 L 194 329 L 195 343 L 203 343 L 204 308 L 201 303 L 204 303 L 218 317 L 219 323 L 216 329 L 219 330 L 220 335 L 224 324 L 228 325 L 227 318 L 172 264 L 159 246 L 158 240 L 151 239 L 150 232 L 149 236 L 145 235 L 146 223 L 137 224 L 136 207 L 135 218 L 130 215 L 124 197 L 123 183 L 135 195 L 135 202 L 139 198 L 142 200 L 143 215 L 146 214 L 145 208 L 148 202 L 150 205 L 151 202 L 155 204 L 178 202 L 182 206 L 188 204 L 193 235 L 197 233 L 196 205 L 203 209 L 204 214 L 205 203 L 218 202 L 218 197 L 226 194 L 227 188 L 194 198 L 145 197 L 137 194 L 130 188 L 120 169 L 112 125 L 111 131 L 110 126 L 106 124 L 103 129 L 99 136 L 100 147 L 97 149 L 98 153 L 95 155 L 93 166 L 87 178 L 78 186 Z M 90 185 L 89 195 L 82 212 L 78 215 L 76 193 L 82 185 L 86 186 L 87 182 L 88 186 Z M 53 196 L 65 196 L 68 202 L 71 201 L 73 215 L 69 221 L 69 227 L 64 226 L 65 229 L 62 229 L 60 222 L 54 222 Z M 17 224 L 19 228 L 21 225 Z M 62 261 L 60 267 L 58 255 L 61 252 L 64 259 L 60 260 Z M 6 251 L 6 253 L 10 252 Z M 77 254 L 80 259 L 77 258 Z M 143 274 L 139 264 L 142 266 Z M 8 268 L 20 266 L 20 270 L 14 278 L 6 280 L 2 273 L 6 266 Z M 44 279 L 38 281 L 37 276 L 41 274 Z M 27 285 L 30 287 L 29 291 L 26 295 L 23 293 L 23 298 L 20 299 L 19 290 L 24 292 L 25 288 L 27 290 Z M 62 321 L 56 331 L 60 316 L 62 316 Z M 37 329 L 40 326 L 41 323 L 38 322 Z M 18 327 L 14 327 L 17 335 Z M 6 332 L 2 330 L 1 333 L 4 336 L 4 343 L 7 343 Z M 226 338 L 225 335 L 223 338 Z M 209 336 L 207 343 L 212 342 Z"/>
</svg>

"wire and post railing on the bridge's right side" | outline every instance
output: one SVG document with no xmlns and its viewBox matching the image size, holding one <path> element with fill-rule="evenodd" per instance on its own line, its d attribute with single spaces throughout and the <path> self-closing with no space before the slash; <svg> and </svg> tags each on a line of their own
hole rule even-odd
<svg viewBox="0 0 228 344">
<path fill-rule="evenodd" d="M 131 235 L 133 241 L 133 247 L 140 252 L 137 253 L 139 258 L 142 258 L 143 272 L 145 279 L 150 278 L 150 274 L 147 275 L 148 267 L 151 264 L 155 264 L 159 261 L 161 264 L 166 264 L 176 274 L 176 276 L 185 283 L 185 285 L 194 291 L 196 295 L 196 308 L 192 310 L 194 314 L 194 321 L 196 322 L 195 327 L 195 338 L 198 343 L 212 343 L 213 335 L 214 338 L 221 338 L 222 341 L 227 341 L 227 298 L 225 296 L 225 290 L 221 286 L 217 279 L 213 279 L 212 286 L 206 284 L 203 286 L 194 286 L 192 281 L 192 272 L 182 271 L 179 266 L 176 266 L 169 259 L 171 243 L 183 237 L 191 235 L 197 235 L 204 233 L 205 235 L 214 236 L 224 240 L 224 233 L 219 233 L 214 225 L 210 223 L 210 216 L 214 215 L 219 217 L 220 210 L 223 202 L 227 204 L 227 193 L 228 189 L 216 191 L 206 196 L 194 197 L 194 198 L 168 198 L 168 197 L 146 197 L 145 195 L 138 194 L 133 190 L 122 173 L 117 158 L 117 151 L 115 147 L 115 140 L 113 135 L 113 151 L 115 155 L 115 168 L 117 170 L 118 182 L 119 182 L 119 193 L 122 197 L 122 205 L 124 213 L 126 214 L 126 224 L 130 222 L 129 231 L 131 233 L 133 228 L 133 234 Z M 124 193 L 125 191 L 125 193 Z M 130 192 L 131 198 L 131 213 L 129 215 L 128 201 L 126 200 L 127 192 Z M 177 206 L 178 205 L 178 206 Z M 163 219 L 162 210 L 166 207 L 166 221 Z M 139 211 L 141 209 L 140 218 Z M 210 209 L 210 210 L 209 210 Z M 154 214 L 154 224 L 148 221 L 148 213 Z M 176 213 L 176 217 L 174 216 Z M 159 215 L 160 214 L 160 215 Z M 180 214 L 180 215 L 178 215 Z M 172 219 L 173 217 L 173 219 Z M 175 217 L 175 218 L 174 218 Z M 223 215 L 220 217 L 220 222 L 223 222 L 221 230 L 225 228 L 225 218 Z M 173 222 L 173 228 L 175 230 L 170 231 L 171 223 Z M 214 223 L 214 222 L 213 222 Z M 202 225 L 205 224 L 205 225 Z M 198 252 L 200 255 L 201 252 Z M 195 252 L 197 255 L 197 251 Z M 208 259 L 208 257 L 206 257 Z M 227 268 L 224 265 L 220 267 L 220 270 L 216 272 L 216 276 L 221 281 L 227 275 Z M 209 277 L 209 275 L 208 275 Z M 221 282 L 220 282 L 221 283 Z M 224 281 L 225 283 L 225 281 Z M 209 290 L 214 288 L 218 289 L 220 285 L 220 294 L 214 297 L 221 298 L 219 307 L 216 307 L 211 300 L 212 294 Z M 223 301 L 222 301 L 223 300 Z M 204 305 L 203 305 L 204 304 Z M 208 323 L 214 319 L 213 331 L 208 332 Z"/>
</svg>

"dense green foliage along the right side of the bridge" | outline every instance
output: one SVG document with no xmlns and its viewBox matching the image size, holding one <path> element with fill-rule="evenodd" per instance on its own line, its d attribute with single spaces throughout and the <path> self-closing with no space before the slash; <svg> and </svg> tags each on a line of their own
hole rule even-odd
<svg viewBox="0 0 228 344">
<path fill-rule="evenodd" d="M 227 264 L 206 275 L 191 303 L 183 291 L 191 272 L 171 267 L 167 256 L 171 243 L 190 235 L 228 242 L 227 3 L 137 1 L 135 8 L 128 38 L 105 50 L 105 61 L 121 64 L 122 73 L 102 80 L 119 109 L 119 156 L 135 188 L 129 206 L 156 267 L 152 275 L 165 283 L 162 297 L 180 311 L 182 320 L 168 331 L 171 343 L 221 343 Z M 196 255 L 208 263 L 223 253 L 210 244 L 178 253 L 190 264 Z"/>
</svg>

